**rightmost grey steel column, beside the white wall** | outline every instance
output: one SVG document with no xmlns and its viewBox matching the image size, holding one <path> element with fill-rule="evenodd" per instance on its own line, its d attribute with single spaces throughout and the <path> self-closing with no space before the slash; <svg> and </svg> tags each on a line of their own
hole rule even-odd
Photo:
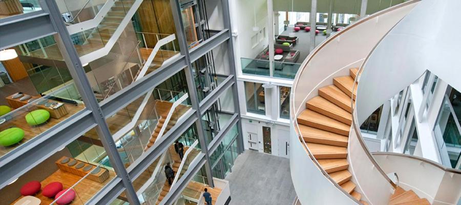
<svg viewBox="0 0 461 205">
<path fill-rule="evenodd" d="M 234 75 L 234 85 L 232 86 L 232 94 L 234 95 L 234 110 L 239 116 L 237 122 L 237 130 L 239 137 L 237 137 L 237 146 L 239 153 L 244 151 L 243 147 L 243 134 L 242 134 L 242 118 L 240 116 L 240 105 L 239 105 L 239 92 L 237 90 L 237 71 L 235 66 L 235 55 L 234 55 L 234 39 L 232 36 L 232 23 L 231 23 L 231 9 L 228 0 L 221 0 L 222 2 L 222 13 L 224 18 L 224 28 L 229 30 L 229 40 L 227 41 L 227 56 L 229 57 L 229 67 L 231 74 Z"/>
</svg>

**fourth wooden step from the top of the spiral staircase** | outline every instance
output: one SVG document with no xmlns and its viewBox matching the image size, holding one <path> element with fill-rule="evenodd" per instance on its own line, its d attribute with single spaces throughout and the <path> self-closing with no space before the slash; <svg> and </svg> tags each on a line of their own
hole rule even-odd
<svg viewBox="0 0 461 205">
<path fill-rule="evenodd" d="M 352 114 L 321 96 L 316 96 L 308 100 L 306 108 L 336 119 L 346 125 L 352 124 Z"/>
</svg>

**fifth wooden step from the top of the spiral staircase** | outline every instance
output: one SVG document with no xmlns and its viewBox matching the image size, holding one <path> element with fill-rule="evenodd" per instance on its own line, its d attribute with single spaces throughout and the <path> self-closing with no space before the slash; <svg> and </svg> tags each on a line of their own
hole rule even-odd
<svg viewBox="0 0 461 205">
<path fill-rule="evenodd" d="M 349 136 L 350 126 L 309 109 L 304 110 L 298 116 L 298 123 L 344 136 Z"/>
</svg>

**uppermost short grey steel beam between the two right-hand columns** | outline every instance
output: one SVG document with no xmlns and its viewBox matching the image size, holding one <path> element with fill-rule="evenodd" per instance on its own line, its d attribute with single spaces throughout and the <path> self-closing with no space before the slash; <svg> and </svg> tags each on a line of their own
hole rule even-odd
<svg viewBox="0 0 461 205">
<path fill-rule="evenodd" d="M 184 30 L 184 29 L 182 29 L 182 30 Z M 220 31 L 219 33 L 217 33 L 216 35 L 206 39 L 205 40 L 206 43 L 203 42 L 203 43 L 199 44 L 198 46 L 192 48 L 191 51 L 189 51 L 191 62 L 196 61 L 197 59 L 202 57 L 205 53 L 208 53 L 208 52 L 212 51 L 214 48 L 216 48 L 217 46 L 224 43 L 226 40 L 229 39 L 229 36 L 230 36 L 229 30 L 224 29 L 224 30 Z M 180 38 L 178 38 L 178 39 L 180 39 Z"/>
</svg>

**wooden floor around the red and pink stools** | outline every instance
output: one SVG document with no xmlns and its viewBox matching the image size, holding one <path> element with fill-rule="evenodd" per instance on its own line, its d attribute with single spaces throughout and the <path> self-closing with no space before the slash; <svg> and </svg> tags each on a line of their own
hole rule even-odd
<svg viewBox="0 0 461 205">
<path fill-rule="evenodd" d="M 115 173 L 112 171 L 109 171 L 109 179 L 104 181 L 104 183 L 99 183 L 90 179 L 83 179 L 81 180 L 73 189 L 76 192 L 76 196 L 74 201 L 70 204 L 85 204 L 91 197 L 93 197 L 99 190 L 102 189 L 102 187 L 106 186 L 106 184 L 111 181 L 115 177 Z M 54 172 L 52 175 L 47 177 L 45 180 L 41 181 L 41 188 L 43 189 L 48 183 L 53 182 L 53 181 L 59 181 L 62 183 L 64 186 L 64 189 L 68 189 L 75 185 L 78 180 L 80 180 L 82 177 L 64 172 L 61 170 L 57 170 Z M 41 195 L 41 191 L 38 192 L 38 194 L 35 195 L 35 197 L 39 198 L 41 200 L 41 204 L 50 204 L 53 202 L 53 198 L 48 198 L 43 195 Z M 17 200 L 19 200 L 22 197 L 19 197 Z M 16 201 L 17 201 L 16 200 Z M 14 201 L 11 204 L 14 204 L 16 201 Z"/>
</svg>

